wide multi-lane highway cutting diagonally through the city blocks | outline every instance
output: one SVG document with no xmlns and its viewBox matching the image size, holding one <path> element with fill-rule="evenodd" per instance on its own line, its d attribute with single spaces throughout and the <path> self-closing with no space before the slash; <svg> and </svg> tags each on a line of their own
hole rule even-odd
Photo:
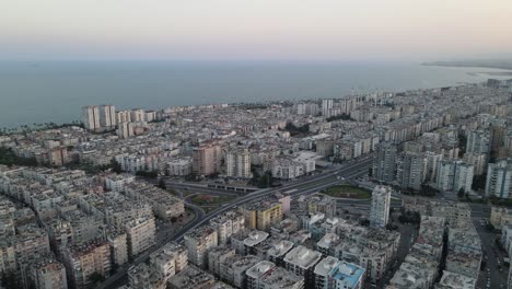
<svg viewBox="0 0 512 289">
<path fill-rule="evenodd" d="M 179 241 L 188 231 L 194 230 L 200 226 L 207 224 L 211 219 L 216 218 L 217 216 L 226 212 L 229 210 L 235 209 L 238 206 L 249 203 L 249 201 L 256 201 L 258 199 L 264 199 L 265 197 L 268 197 L 275 193 L 278 192 L 288 192 L 292 189 L 292 193 L 290 195 L 292 197 L 298 197 L 300 195 L 310 195 L 314 194 L 323 188 L 329 187 L 334 184 L 337 184 L 339 182 L 342 182 L 342 178 L 353 178 L 359 175 L 363 175 L 368 173 L 368 169 L 372 164 L 372 159 L 371 155 L 368 155 L 365 158 L 361 158 L 351 162 L 348 162 L 344 165 L 335 166 L 328 170 L 325 170 L 321 174 L 316 175 L 311 175 L 311 176 L 305 176 L 303 178 L 300 178 L 298 181 L 294 181 L 290 184 L 287 184 L 281 187 L 276 187 L 276 188 L 265 188 L 260 189 L 254 193 L 249 193 L 243 197 L 237 198 L 235 201 L 226 204 L 217 210 L 210 212 L 203 218 L 196 218 L 194 221 L 187 223 L 184 226 L 183 229 L 181 229 L 176 234 L 174 234 L 171 238 L 156 238 L 156 244 L 153 245 L 151 248 L 146 251 L 144 253 L 140 254 L 137 258 L 135 258 L 130 264 L 126 264 L 125 266 L 118 268 L 118 270 L 108 277 L 104 282 L 102 282 L 97 288 L 104 289 L 104 288 L 116 288 L 120 286 L 121 284 L 126 282 L 126 273 L 129 268 L 129 266 L 132 265 L 138 265 L 142 262 L 144 262 L 151 253 L 160 248 L 162 245 L 164 245 L 168 241 Z M 338 180 L 338 176 L 341 180 Z M 197 211 L 198 207 L 197 206 L 190 206 L 190 204 L 187 204 L 187 206 L 191 207 L 195 211 Z M 198 212 L 200 213 L 200 212 Z M 121 279 L 123 278 L 123 279 Z M 119 284 L 117 284 L 120 281 Z"/>
</svg>

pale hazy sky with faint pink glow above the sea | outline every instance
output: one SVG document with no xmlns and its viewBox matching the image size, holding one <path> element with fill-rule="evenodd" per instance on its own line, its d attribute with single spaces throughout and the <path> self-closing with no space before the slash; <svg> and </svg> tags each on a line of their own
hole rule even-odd
<svg viewBox="0 0 512 289">
<path fill-rule="evenodd" d="M 433 60 L 511 53 L 512 0 L 0 0 L 1 59 Z"/>
</svg>

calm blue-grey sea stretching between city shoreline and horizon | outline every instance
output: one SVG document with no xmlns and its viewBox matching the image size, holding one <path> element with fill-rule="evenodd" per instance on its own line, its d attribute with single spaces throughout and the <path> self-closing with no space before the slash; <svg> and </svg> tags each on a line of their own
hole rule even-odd
<svg viewBox="0 0 512 289">
<path fill-rule="evenodd" d="M 340 97 L 512 78 L 487 68 L 396 62 L 2 61 L 0 128 L 79 120 L 117 109 Z"/>
</svg>

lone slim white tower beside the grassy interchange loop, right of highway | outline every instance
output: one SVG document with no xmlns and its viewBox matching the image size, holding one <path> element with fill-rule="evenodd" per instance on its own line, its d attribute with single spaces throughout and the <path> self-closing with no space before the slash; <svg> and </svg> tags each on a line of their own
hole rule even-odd
<svg viewBox="0 0 512 289">
<path fill-rule="evenodd" d="M 376 186 L 372 193 L 372 207 L 370 210 L 370 224 L 372 227 L 385 228 L 389 221 L 392 188 L 388 186 Z"/>
</svg>

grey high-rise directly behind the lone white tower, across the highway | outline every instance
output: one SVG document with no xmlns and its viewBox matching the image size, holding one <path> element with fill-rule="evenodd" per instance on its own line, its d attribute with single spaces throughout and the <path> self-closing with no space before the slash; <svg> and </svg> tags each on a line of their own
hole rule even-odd
<svg viewBox="0 0 512 289">
<path fill-rule="evenodd" d="M 373 177 L 384 183 L 393 183 L 396 177 L 397 148 L 391 142 L 379 146 L 373 159 Z"/>
</svg>

